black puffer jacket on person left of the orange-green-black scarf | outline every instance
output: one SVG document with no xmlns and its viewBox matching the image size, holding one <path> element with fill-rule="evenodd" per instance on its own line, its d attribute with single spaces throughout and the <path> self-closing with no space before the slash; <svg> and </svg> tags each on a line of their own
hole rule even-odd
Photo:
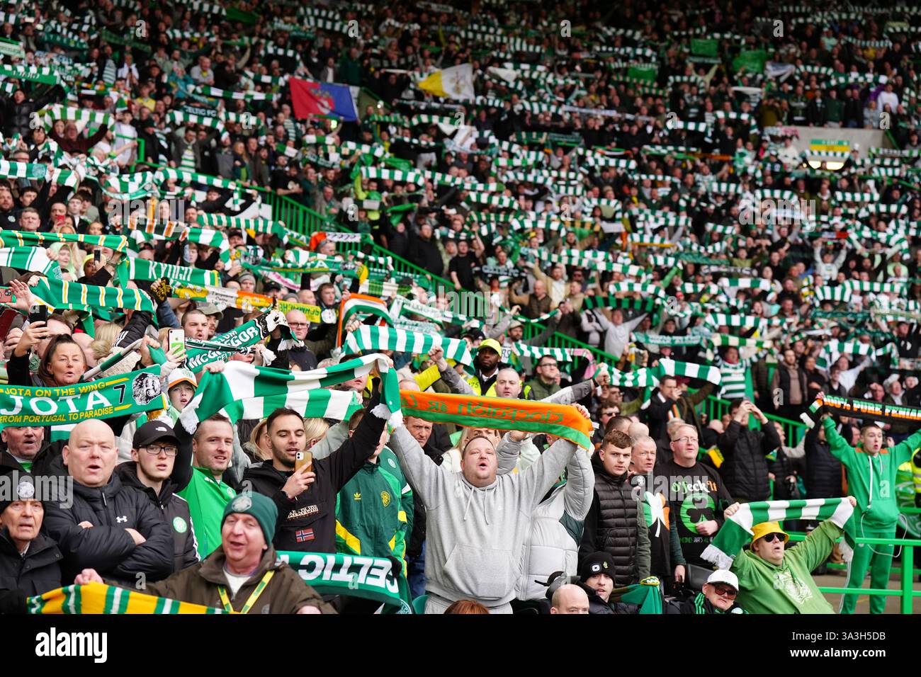
<svg viewBox="0 0 921 677">
<path fill-rule="evenodd" d="M 771 485 L 764 457 L 780 446 L 774 424 L 768 422 L 758 431 L 733 420 L 717 439 L 717 446 L 725 459 L 719 466 L 719 475 L 729 496 L 740 502 L 766 501 Z"/>
</svg>

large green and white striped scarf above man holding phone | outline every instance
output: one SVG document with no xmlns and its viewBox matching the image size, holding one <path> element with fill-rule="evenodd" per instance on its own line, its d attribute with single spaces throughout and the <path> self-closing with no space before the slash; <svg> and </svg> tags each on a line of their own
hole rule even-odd
<svg viewBox="0 0 921 677">
<path fill-rule="evenodd" d="M 347 420 L 353 411 L 361 408 L 359 394 L 326 389 L 367 375 L 375 365 L 384 378 L 381 402 L 394 414 L 393 422 L 400 412 L 397 375 L 379 353 L 328 368 L 297 372 L 228 362 L 224 371 L 204 374 L 192 402 L 182 410 L 179 422 L 192 433 L 204 419 L 218 412 L 232 421 L 262 419 L 285 406 L 306 418 Z"/>
</svg>

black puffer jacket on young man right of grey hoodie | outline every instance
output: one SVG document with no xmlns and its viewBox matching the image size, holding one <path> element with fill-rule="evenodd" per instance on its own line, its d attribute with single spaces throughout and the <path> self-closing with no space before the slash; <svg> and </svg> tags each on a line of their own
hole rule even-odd
<svg viewBox="0 0 921 677">
<path fill-rule="evenodd" d="M 591 460 L 595 492 L 585 519 L 579 562 L 604 551 L 614 560 L 614 587 L 631 585 L 649 576 L 649 531 L 643 506 L 627 482 L 627 473 L 608 474 L 600 454 Z"/>
</svg>

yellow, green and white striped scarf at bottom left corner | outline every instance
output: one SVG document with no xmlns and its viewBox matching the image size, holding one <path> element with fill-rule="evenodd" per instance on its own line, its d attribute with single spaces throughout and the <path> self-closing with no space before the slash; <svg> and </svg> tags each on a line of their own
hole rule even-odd
<svg viewBox="0 0 921 677">
<path fill-rule="evenodd" d="M 49 590 L 27 598 L 26 608 L 29 613 L 226 613 L 223 609 L 154 597 L 102 583 Z M 51 641 L 54 641 L 53 634 Z"/>
</svg>

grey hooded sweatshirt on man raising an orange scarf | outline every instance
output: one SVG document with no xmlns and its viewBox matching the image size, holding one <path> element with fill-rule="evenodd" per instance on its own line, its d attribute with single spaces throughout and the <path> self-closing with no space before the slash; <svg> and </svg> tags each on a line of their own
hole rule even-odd
<svg viewBox="0 0 921 677">
<path fill-rule="evenodd" d="M 448 464 L 433 463 L 402 426 L 393 431 L 390 447 L 426 506 L 426 591 L 507 612 L 534 508 L 576 445 L 558 440 L 523 473 L 497 475 L 483 487 L 451 472 Z"/>
</svg>

